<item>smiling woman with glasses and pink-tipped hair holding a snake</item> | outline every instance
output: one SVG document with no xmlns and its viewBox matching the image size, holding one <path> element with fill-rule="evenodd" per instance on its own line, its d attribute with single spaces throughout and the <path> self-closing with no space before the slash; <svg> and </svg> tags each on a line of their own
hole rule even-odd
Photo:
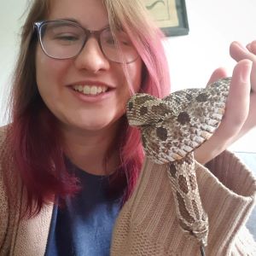
<svg viewBox="0 0 256 256">
<path fill-rule="evenodd" d="M 168 93 L 161 38 L 138 1 L 33 1 L 15 71 L 12 122 L 1 129 L 1 255 L 199 253 L 177 227 L 166 172 L 145 160 L 137 181 L 143 149 L 125 119 L 132 93 Z M 255 42 L 247 49 L 231 45 L 239 62 L 225 118 L 196 150 L 201 164 L 255 125 Z M 218 69 L 210 80 L 224 76 Z M 217 177 L 201 164 L 202 201 L 210 224 L 216 222 L 207 255 L 253 253 L 241 224 L 253 207 L 255 180 L 227 152 L 208 163 Z M 241 179 L 246 189 L 236 187 Z"/>
</svg>

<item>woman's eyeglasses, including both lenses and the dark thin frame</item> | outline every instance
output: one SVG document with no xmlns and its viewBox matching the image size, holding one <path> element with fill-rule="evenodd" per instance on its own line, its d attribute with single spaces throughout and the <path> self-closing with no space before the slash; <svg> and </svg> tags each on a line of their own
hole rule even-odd
<svg viewBox="0 0 256 256">
<path fill-rule="evenodd" d="M 35 22 L 41 47 L 51 58 L 65 60 L 79 55 L 87 40 L 94 36 L 109 61 L 131 63 L 137 60 L 138 53 L 128 35 L 118 30 L 116 37 L 109 27 L 100 31 L 90 31 L 69 20 L 47 20 Z"/>
</svg>

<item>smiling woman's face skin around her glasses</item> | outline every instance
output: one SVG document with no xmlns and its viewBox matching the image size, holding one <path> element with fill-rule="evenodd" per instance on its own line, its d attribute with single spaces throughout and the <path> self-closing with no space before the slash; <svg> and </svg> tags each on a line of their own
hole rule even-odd
<svg viewBox="0 0 256 256">
<path fill-rule="evenodd" d="M 101 0 L 55 0 L 47 20 L 76 20 L 91 31 L 108 26 Z M 142 65 L 140 58 L 127 65 L 135 91 L 141 85 Z M 36 71 L 39 93 L 62 125 L 99 131 L 125 113 L 131 92 L 122 65 L 108 61 L 94 37 L 88 39 L 77 57 L 67 60 L 50 58 L 38 44 Z M 100 88 L 108 90 L 98 93 Z M 92 95 L 93 91 L 97 94 Z"/>
</svg>

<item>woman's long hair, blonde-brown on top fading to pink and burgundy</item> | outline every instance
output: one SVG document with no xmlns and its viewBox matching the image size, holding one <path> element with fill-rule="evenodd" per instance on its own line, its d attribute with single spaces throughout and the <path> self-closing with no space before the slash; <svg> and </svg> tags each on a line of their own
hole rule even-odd
<svg viewBox="0 0 256 256">
<path fill-rule="evenodd" d="M 26 188 L 23 217 L 28 218 L 38 214 L 44 204 L 54 201 L 54 195 L 64 199 L 79 191 L 78 179 L 67 172 L 57 119 L 45 106 L 36 82 L 35 54 L 38 39 L 32 26 L 35 21 L 47 18 L 50 2 L 32 1 L 22 28 L 20 54 L 15 67 L 10 102 L 8 150 L 5 150 L 7 153 L 3 157 L 3 168 L 10 168 L 12 159 L 15 171 Z M 165 96 L 169 92 L 170 81 L 161 42 L 164 38 L 162 32 L 148 18 L 140 1 L 103 0 L 103 3 L 108 10 L 109 24 L 113 32 L 121 26 L 143 60 L 141 90 L 154 96 Z M 125 202 L 134 189 L 144 155 L 139 131 L 128 125 L 125 116 L 121 126 L 114 142 L 119 146 L 121 166 L 119 172 L 113 176 L 111 185 L 113 190 L 115 186 L 122 187 Z M 10 189 L 7 193 L 12 196 Z"/>
</svg>

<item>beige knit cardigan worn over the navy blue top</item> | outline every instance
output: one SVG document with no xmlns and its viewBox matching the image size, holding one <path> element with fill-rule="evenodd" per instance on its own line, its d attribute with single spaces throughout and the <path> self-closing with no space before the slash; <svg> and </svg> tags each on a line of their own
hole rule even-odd
<svg viewBox="0 0 256 256">
<path fill-rule="evenodd" d="M 0 152 L 4 149 L 3 137 L 2 129 Z M 12 174 L 13 171 L 12 168 L 3 170 L 0 165 L 0 255 L 43 256 L 53 205 L 44 206 L 35 218 L 20 221 L 24 189 L 20 181 L 10 175 L 9 188 L 15 192 L 17 202 L 9 201 L 3 172 Z M 207 168 L 196 163 L 196 175 L 210 225 L 206 255 L 255 256 L 255 241 L 245 227 L 256 195 L 252 173 L 235 155 L 224 152 Z M 200 255 L 195 239 L 184 235 L 177 224 L 165 166 L 145 159 L 137 187 L 119 212 L 111 255 Z"/>
</svg>

